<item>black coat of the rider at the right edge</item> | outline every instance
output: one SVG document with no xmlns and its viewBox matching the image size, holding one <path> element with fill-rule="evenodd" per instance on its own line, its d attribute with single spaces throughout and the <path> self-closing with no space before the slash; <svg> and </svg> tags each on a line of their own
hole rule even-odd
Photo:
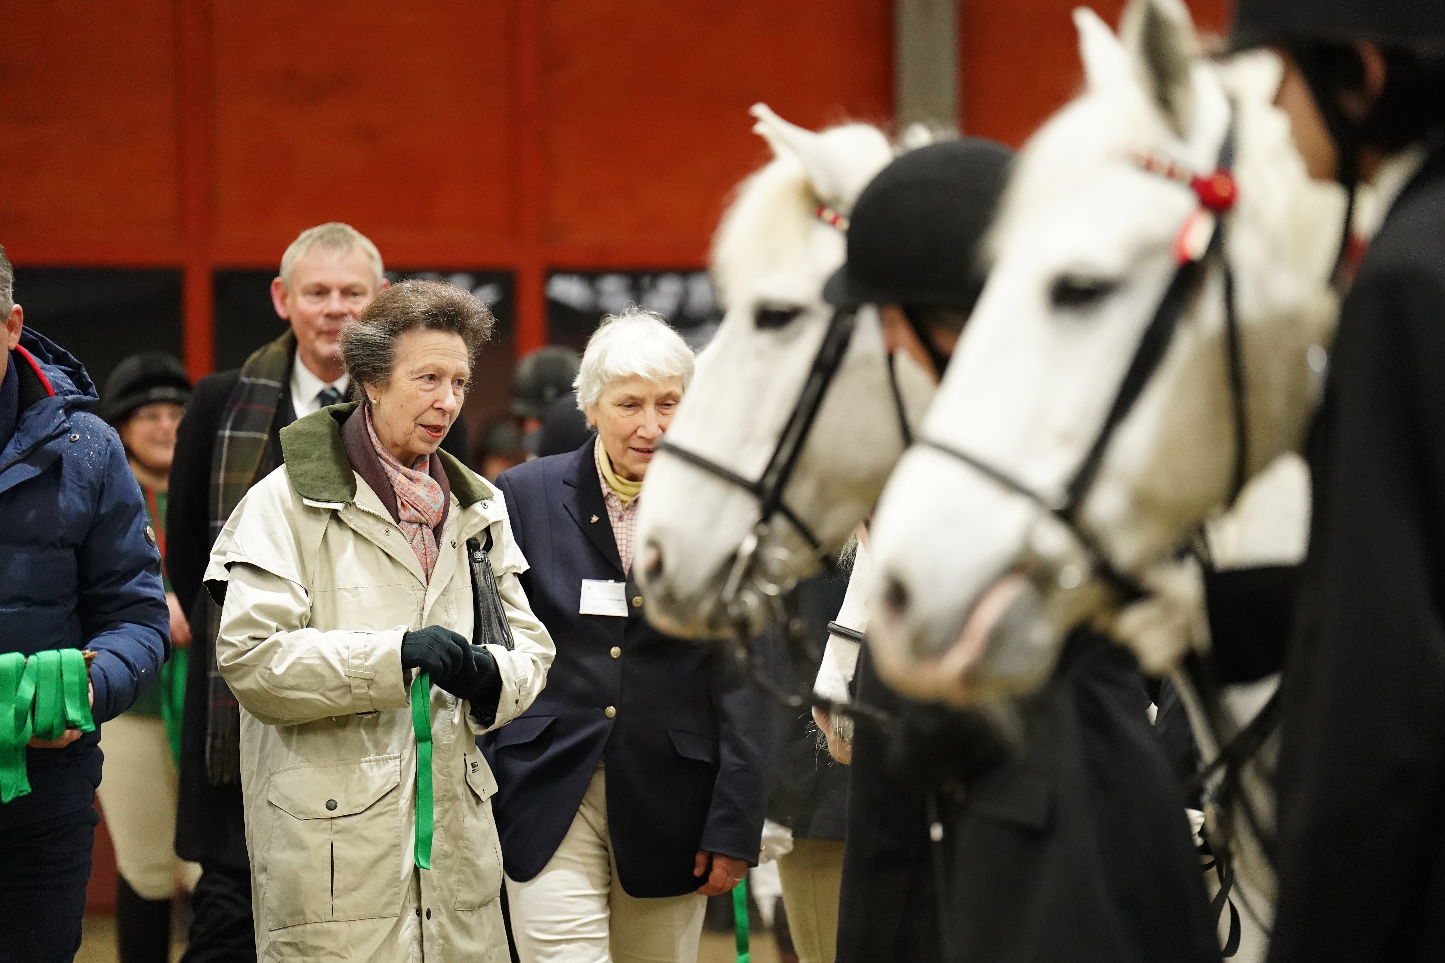
<svg viewBox="0 0 1445 963">
<path fill-rule="evenodd" d="M 1270 959 L 1445 956 L 1445 150 L 1344 302 L 1285 670 Z"/>
</svg>

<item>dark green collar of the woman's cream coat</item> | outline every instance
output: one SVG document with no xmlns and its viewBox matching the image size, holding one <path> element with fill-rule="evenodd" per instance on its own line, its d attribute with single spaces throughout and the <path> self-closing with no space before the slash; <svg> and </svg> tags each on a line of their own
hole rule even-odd
<svg viewBox="0 0 1445 963">
<path fill-rule="evenodd" d="M 280 450 L 286 461 L 286 476 L 302 498 L 312 501 L 353 502 L 357 498 L 355 474 L 347 458 L 341 426 L 355 411 L 357 401 L 332 404 L 292 422 L 280 430 Z M 436 449 L 452 495 L 462 508 L 494 498 L 496 492 L 458 462 L 451 453 Z"/>
</svg>

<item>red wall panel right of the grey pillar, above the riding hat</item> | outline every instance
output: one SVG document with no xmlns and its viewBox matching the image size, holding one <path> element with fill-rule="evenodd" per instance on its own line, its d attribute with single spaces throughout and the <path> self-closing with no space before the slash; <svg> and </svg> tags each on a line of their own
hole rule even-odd
<svg viewBox="0 0 1445 963">
<path fill-rule="evenodd" d="M 1017 147 L 1084 82 L 1077 0 L 961 0 L 959 78 L 964 130 Z M 1118 25 L 1123 0 L 1085 6 Z M 1228 29 L 1230 0 L 1189 0 L 1195 26 Z"/>
</svg>

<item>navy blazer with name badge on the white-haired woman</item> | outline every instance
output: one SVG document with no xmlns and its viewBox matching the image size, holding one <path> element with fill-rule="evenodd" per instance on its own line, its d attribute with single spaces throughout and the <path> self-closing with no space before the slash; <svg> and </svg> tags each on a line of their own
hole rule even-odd
<svg viewBox="0 0 1445 963">
<path fill-rule="evenodd" d="M 623 889 L 678 897 L 704 879 L 696 852 L 757 863 L 772 713 L 717 647 L 663 635 L 623 573 L 592 440 L 501 474 L 530 569 L 532 611 L 556 644 L 546 689 L 483 736 L 507 875 L 542 872 L 598 761 Z M 582 579 L 627 582 L 627 615 L 579 615 Z M 608 718 L 607 710 L 613 709 Z"/>
</svg>

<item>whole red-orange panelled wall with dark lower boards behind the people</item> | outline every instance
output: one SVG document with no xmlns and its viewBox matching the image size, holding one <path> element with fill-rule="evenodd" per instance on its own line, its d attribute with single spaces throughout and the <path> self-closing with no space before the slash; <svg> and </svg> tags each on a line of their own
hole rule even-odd
<svg viewBox="0 0 1445 963">
<path fill-rule="evenodd" d="M 806 127 L 932 117 L 1017 146 L 1078 88 L 1072 6 L 0 0 L 0 244 L 26 323 L 97 383 L 143 348 L 199 377 L 282 331 L 266 293 L 282 251 L 347 221 L 396 276 L 491 305 L 475 432 L 516 355 L 581 348 L 627 300 L 683 332 L 715 322 L 708 240 L 769 157 L 749 105 Z M 1110 22 L 1121 6 L 1095 3 Z M 1191 7 L 1225 27 L 1227 0 Z"/>
</svg>

